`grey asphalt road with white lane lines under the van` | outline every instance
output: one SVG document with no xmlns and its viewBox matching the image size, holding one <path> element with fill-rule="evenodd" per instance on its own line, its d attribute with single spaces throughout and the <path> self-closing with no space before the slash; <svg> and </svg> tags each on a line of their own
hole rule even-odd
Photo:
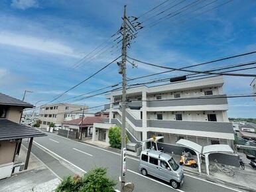
<svg viewBox="0 0 256 192">
<path fill-rule="evenodd" d="M 52 158 L 45 150 L 50 151 L 50 154 L 54 154 L 56 158 Z M 68 174 L 75 171 L 66 170 L 66 168 L 64 170 L 63 165 L 56 165 L 56 159 L 72 165 L 73 168 L 78 169 L 80 172 L 86 172 L 96 167 L 104 167 L 107 168 L 107 173 L 110 177 L 117 181 L 119 180 L 120 154 L 96 146 L 48 133 L 48 136 L 34 138 L 32 153 L 59 177 L 63 177 L 65 173 Z M 50 158 L 47 158 L 48 156 Z M 138 163 L 136 158 L 127 157 L 126 179 L 135 183 L 134 191 L 238 191 L 237 189 L 231 189 L 224 185 L 188 175 L 188 173 L 185 173 L 182 187 L 173 189 L 168 183 L 160 179 L 141 175 L 138 170 Z"/>
</svg>

